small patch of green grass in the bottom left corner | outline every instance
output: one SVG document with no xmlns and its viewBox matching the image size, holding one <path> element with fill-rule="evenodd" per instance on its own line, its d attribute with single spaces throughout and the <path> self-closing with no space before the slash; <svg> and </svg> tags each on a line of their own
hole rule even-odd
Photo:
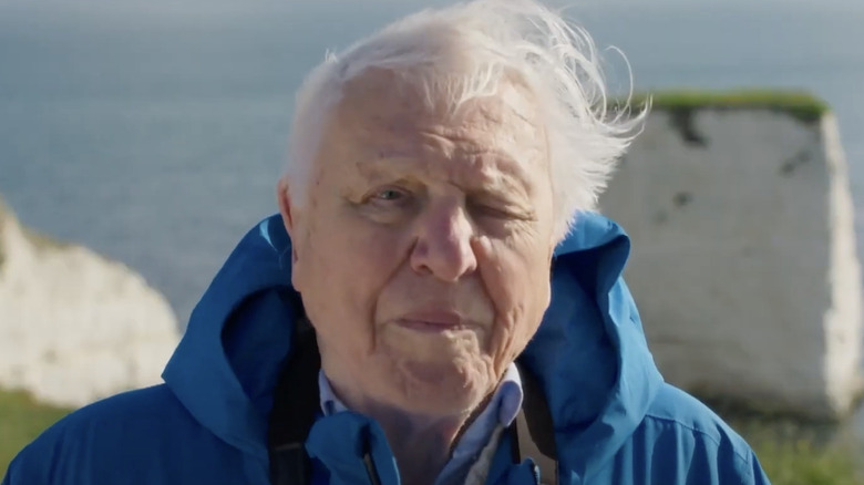
<svg viewBox="0 0 864 485">
<path fill-rule="evenodd" d="M 23 392 L 0 391 L 0 477 L 24 445 L 69 412 L 38 404 Z"/>
</svg>

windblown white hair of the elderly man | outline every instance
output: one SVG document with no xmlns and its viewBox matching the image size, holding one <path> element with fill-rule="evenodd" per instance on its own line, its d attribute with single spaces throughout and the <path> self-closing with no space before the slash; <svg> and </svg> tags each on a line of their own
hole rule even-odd
<svg viewBox="0 0 864 485">
<path fill-rule="evenodd" d="M 475 0 L 405 17 L 341 53 L 328 53 L 297 92 L 286 176 L 294 200 L 306 200 L 328 116 L 342 87 L 383 69 L 424 93 L 426 103 L 457 109 L 495 95 L 515 74 L 539 104 L 548 138 L 555 235 L 577 214 L 595 210 L 616 161 L 641 126 L 627 102 L 607 107 L 597 50 L 588 33 L 534 0 Z"/>
</svg>

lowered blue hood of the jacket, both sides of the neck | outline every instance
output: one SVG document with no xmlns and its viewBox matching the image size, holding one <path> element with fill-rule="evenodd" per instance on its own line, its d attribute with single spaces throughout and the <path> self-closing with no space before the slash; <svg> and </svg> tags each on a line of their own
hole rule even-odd
<svg viewBox="0 0 864 485">
<path fill-rule="evenodd" d="M 558 460 L 580 476 L 617 452 L 662 383 L 620 278 L 629 248 L 619 226 L 582 214 L 555 250 L 551 305 L 520 358 L 546 393 Z M 302 314 L 290 255 L 278 215 L 253 228 L 196 306 L 163 373 L 203 426 L 260 460 L 272 392 Z"/>
</svg>

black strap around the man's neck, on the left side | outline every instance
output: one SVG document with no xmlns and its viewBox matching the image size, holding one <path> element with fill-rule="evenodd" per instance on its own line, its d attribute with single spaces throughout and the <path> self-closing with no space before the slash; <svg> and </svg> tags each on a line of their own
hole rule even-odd
<svg viewBox="0 0 864 485">
<path fill-rule="evenodd" d="M 300 319 L 291 342 L 291 355 L 274 392 L 267 431 L 272 485 L 305 485 L 311 481 L 306 438 L 320 409 L 318 371 L 321 357 L 315 329 Z"/>
</svg>

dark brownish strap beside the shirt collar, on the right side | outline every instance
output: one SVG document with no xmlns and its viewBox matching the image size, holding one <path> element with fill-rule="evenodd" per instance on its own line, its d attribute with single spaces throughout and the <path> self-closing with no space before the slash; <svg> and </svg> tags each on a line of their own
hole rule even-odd
<svg viewBox="0 0 864 485">
<path fill-rule="evenodd" d="M 539 467 L 541 482 L 544 485 L 557 485 L 558 453 L 546 394 L 531 371 L 518 362 L 517 367 L 524 398 L 516 421 L 511 425 L 511 433 L 515 437 L 512 450 L 514 461 L 518 463 L 531 457 Z"/>
</svg>

